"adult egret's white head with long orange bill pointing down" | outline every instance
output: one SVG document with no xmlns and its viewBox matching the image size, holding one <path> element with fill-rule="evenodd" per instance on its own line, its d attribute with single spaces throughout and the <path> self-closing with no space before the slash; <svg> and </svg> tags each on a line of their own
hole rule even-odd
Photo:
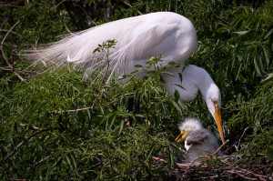
<svg viewBox="0 0 273 181">
<path fill-rule="evenodd" d="M 221 136 L 221 140 L 224 144 L 225 140 L 224 140 L 224 135 L 223 135 L 223 127 L 222 127 L 222 119 L 221 119 L 221 94 L 220 91 L 217 87 L 217 85 L 210 85 L 210 87 L 208 88 L 207 91 L 207 96 L 204 97 L 204 99 L 206 100 L 207 103 L 207 108 L 210 112 L 210 114 L 213 116 L 216 124 L 217 124 L 217 128 L 219 131 L 219 134 Z"/>
</svg>

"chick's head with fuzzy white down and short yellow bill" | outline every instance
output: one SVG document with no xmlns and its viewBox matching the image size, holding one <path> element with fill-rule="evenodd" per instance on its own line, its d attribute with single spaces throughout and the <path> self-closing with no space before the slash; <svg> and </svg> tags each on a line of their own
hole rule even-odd
<svg viewBox="0 0 273 181">
<path fill-rule="evenodd" d="M 180 134 L 177 136 L 176 142 L 180 143 L 185 140 L 190 132 L 202 129 L 202 124 L 195 118 L 186 118 L 183 123 L 179 124 Z"/>
</svg>

